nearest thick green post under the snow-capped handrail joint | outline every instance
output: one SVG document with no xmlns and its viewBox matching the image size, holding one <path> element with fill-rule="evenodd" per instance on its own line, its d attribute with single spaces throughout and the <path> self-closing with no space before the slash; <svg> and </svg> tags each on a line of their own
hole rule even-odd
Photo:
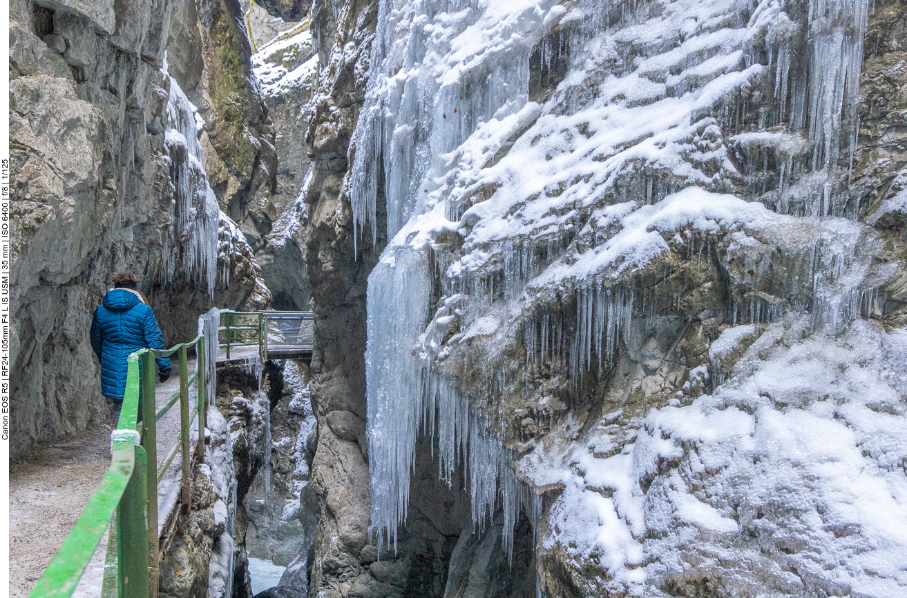
<svg viewBox="0 0 907 598">
<path fill-rule="evenodd" d="M 151 592 L 146 538 L 148 527 L 145 524 L 145 471 L 148 468 L 148 455 L 139 446 L 134 450 L 135 468 L 117 508 L 118 585 L 121 596 L 148 598 Z"/>
</svg>

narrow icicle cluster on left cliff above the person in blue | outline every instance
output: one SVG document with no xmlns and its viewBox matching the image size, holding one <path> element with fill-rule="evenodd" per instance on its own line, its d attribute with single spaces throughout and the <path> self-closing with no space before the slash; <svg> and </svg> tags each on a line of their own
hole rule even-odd
<svg viewBox="0 0 907 598">
<path fill-rule="evenodd" d="M 218 222 L 220 209 L 214 191 L 208 184 L 198 139 L 202 122 L 195 106 L 186 98 L 179 83 L 171 77 L 167 115 L 171 128 L 166 140 L 173 148 L 181 147 L 185 159 L 175 165 L 176 198 L 173 241 L 165 253 L 164 279 L 173 275 L 202 282 L 214 294 L 218 265 Z"/>
</svg>

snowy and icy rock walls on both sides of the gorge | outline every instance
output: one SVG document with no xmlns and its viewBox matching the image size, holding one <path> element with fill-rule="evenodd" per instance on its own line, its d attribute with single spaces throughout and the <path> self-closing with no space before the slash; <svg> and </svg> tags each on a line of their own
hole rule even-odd
<svg viewBox="0 0 907 598">
<path fill-rule="evenodd" d="M 309 595 L 904 593 L 903 3 L 261 6 L 11 8 L 17 446 L 132 269 L 314 305 Z"/>
</svg>

